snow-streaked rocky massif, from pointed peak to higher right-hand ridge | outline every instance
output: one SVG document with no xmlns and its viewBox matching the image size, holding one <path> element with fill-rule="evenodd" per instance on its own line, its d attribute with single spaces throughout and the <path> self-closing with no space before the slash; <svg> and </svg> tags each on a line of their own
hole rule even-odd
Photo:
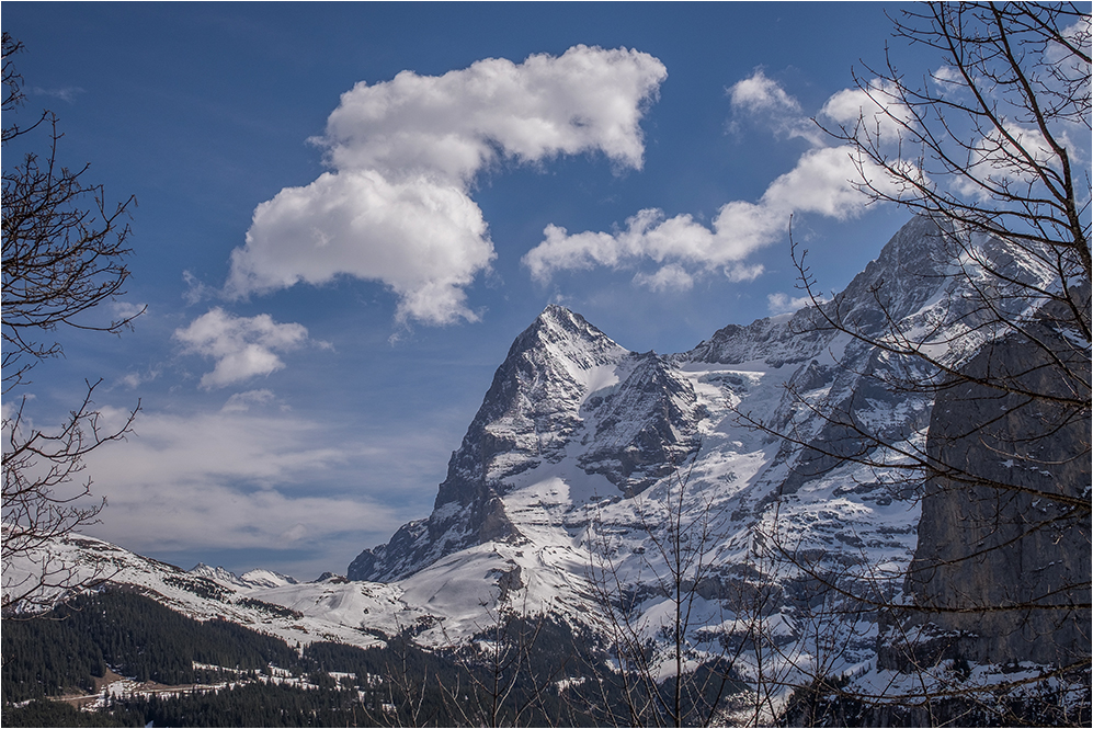
<svg viewBox="0 0 1093 729">
<path fill-rule="evenodd" d="M 1043 280 L 998 241 L 977 244 L 1015 276 Z M 838 455 L 883 451 L 854 423 L 880 443 L 921 453 L 933 398 L 886 387 L 918 373 L 826 317 L 872 337 L 890 317 L 910 335 L 933 337 L 941 358 L 966 360 L 990 335 L 961 288 L 967 270 L 955 266 L 967 265 L 954 264 L 934 223 L 914 218 L 822 309 L 730 324 L 672 355 L 630 352 L 580 315 L 548 307 L 498 368 L 433 513 L 364 550 L 350 579 L 412 584 L 406 599 L 448 619 L 448 636 L 466 625 L 457 590 L 482 604 L 519 594 L 526 610 L 584 620 L 590 559 L 606 548 L 625 589 L 648 595 L 638 622 L 656 641 L 663 565 L 649 556 L 661 528 L 649 515 L 667 508 L 685 466 L 685 520 L 709 510 L 718 523 L 699 633 L 731 633 L 725 626 L 745 623 L 731 595 L 775 584 L 764 629 L 807 641 L 817 629 L 807 625 L 812 606 L 800 604 L 810 578 L 773 557 L 778 549 L 840 583 L 881 574 L 898 597 L 915 549 L 921 485 Z M 942 321 L 947 328 L 938 329 Z M 449 580 L 453 573 L 459 578 Z M 875 654 L 873 622 L 823 629 L 841 634 L 843 665 Z"/>
</svg>

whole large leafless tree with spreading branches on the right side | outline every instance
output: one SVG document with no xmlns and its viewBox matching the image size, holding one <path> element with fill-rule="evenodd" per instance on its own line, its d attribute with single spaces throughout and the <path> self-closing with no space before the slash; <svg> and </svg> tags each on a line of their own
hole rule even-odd
<svg viewBox="0 0 1093 729">
<path fill-rule="evenodd" d="M 807 251 L 795 247 L 794 261 L 808 329 L 870 348 L 859 381 L 925 402 L 929 417 L 893 435 L 864 417 L 865 395 L 833 405 L 790 387 L 838 440 L 742 418 L 799 447 L 805 468 L 855 464 L 921 498 L 900 597 L 828 582 L 880 611 L 881 664 L 920 677 L 853 698 L 895 700 L 931 724 L 953 711 L 1012 722 L 1021 709 L 998 696 L 1034 684 L 1044 695 L 1048 680 L 1081 685 L 1090 672 L 1090 15 L 1069 3 L 926 3 L 893 22 L 941 66 L 914 83 L 889 55 L 856 77 L 856 121 L 828 132 L 847 145 L 863 193 L 931 221 L 921 275 L 938 280 L 941 298 L 898 310 L 925 270 L 908 265 L 873 282 L 865 305 L 827 300 Z M 993 686 L 954 670 L 1021 660 L 1041 668 Z M 1080 698 L 1084 714 L 1051 718 L 1088 722 L 1088 688 Z"/>
</svg>

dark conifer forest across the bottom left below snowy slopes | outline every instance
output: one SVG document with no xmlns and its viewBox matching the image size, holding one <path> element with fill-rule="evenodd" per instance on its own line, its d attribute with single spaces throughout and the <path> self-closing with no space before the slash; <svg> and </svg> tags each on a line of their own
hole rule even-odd
<svg viewBox="0 0 1093 729">
<path fill-rule="evenodd" d="M 104 590 L 45 617 L 3 620 L 3 726 L 625 721 L 625 687 L 596 676 L 604 657 L 582 649 L 592 643 L 568 627 L 514 620 L 488 637 L 499 650 L 428 651 L 410 636 L 367 649 L 316 642 L 297 650 L 232 623 L 194 620 L 133 591 Z M 109 672 L 141 685 L 107 696 L 101 686 Z"/>
</svg>

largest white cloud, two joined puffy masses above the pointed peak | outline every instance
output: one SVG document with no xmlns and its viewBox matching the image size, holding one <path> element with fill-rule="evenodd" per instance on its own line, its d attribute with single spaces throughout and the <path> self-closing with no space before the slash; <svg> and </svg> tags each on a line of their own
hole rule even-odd
<svg viewBox="0 0 1093 729">
<path fill-rule="evenodd" d="M 474 321 L 465 289 L 494 258 L 470 197 L 476 175 L 502 160 L 584 152 L 640 169 L 638 123 L 665 77 L 648 54 L 576 46 L 358 83 L 316 140 L 330 171 L 258 206 L 227 293 L 349 275 L 388 286 L 400 321 Z"/>
</svg>

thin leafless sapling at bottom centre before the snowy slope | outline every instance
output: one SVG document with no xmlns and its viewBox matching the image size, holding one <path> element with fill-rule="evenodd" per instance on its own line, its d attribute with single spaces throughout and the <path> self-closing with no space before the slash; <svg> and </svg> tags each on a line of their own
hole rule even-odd
<svg viewBox="0 0 1093 729">
<path fill-rule="evenodd" d="M 619 696 L 605 692 L 600 708 L 614 726 L 724 721 L 739 709 L 739 702 L 730 700 L 741 683 L 737 661 L 762 645 L 762 596 L 733 590 L 720 573 L 725 519 L 711 493 L 692 483 L 697 453 L 692 454 L 687 466 L 654 487 L 663 490 L 661 496 L 634 498 L 646 543 L 638 554 L 624 554 L 601 517 L 589 529 L 591 614 L 614 663 L 602 682 L 615 684 Z M 662 619 L 642 612 L 650 597 L 665 599 Z M 730 620 L 727 604 L 732 605 Z M 718 625 L 710 626 L 710 605 L 720 606 L 720 619 L 714 620 Z M 724 628 L 726 623 L 732 624 L 732 635 Z M 616 703 L 622 715 L 616 714 Z"/>
</svg>

